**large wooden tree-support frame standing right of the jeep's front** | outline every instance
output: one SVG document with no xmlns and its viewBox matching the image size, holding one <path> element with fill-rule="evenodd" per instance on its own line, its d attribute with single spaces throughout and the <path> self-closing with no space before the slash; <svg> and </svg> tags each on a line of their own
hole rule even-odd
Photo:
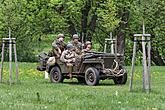
<svg viewBox="0 0 165 110">
<path fill-rule="evenodd" d="M 143 22 L 143 34 L 134 34 L 134 51 L 133 51 L 133 58 L 132 58 L 132 70 L 131 70 L 131 79 L 130 79 L 130 91 L 132 91 L 132 85 L 133 85 L 133 74 L 134 74 L 134 66 L 135 66 L 135 55 L 136 55 L 136 37 L 141 37 L 142 42 L 142 56 L 143 56 L 143 90 L 146 92 L 149 92 L 151 90 L 151 75 L 150 75 L 150 66 L 151 66 L 151 41 L 150 41 L 150 34 L 145 34 L 145 26 Z M 148 44 L 148 51 L 146 52 L 146 44 Z M 148 56 L 148 59 L 147 59 Z"/>
</svg>

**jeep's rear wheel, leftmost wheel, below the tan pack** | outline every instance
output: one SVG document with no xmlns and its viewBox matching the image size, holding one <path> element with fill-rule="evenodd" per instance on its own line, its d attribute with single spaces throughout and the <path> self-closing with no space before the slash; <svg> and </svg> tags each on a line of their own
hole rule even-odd
<svg viewBox="0 0 165 110">
<path fill-rule="evenodd" d="M 50 81 L 53 83 L 63 82 L 63 76 L 59 67 L 54 67 L 50 71 Z"/>
</svg>

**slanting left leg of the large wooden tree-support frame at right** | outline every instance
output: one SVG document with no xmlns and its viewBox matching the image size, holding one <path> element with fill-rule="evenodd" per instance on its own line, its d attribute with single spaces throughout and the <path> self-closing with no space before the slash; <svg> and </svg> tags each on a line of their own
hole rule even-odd
<svg viewBox="0 0 165 110">
<path fill-rule="evenodd" d="M 132 85 L 133 85 L 133 76 L 135 71 L 135 56 L 136 56 L 136 36 L 134 37 L 134 47 L 133 47 L 133 57 L 132 57 L 132 68 L 131 68 L 131 79 L 130 79 L 130 85 L 129 90 L 132 91 Z"/>
</svg>

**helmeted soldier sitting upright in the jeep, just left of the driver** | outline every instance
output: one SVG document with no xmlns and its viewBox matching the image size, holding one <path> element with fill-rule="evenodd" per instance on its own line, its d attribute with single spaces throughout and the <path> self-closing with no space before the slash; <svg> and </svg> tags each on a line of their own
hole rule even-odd
<svg viewBox="0 0 165 110">
<path fill-rule="evenodd" d="M 82 50 L 82 43 L 79 42 L 79 37 L 77 34 L 74 34 L 72 37 L 72 42 L 75 52 L 80 55 Z"/>
</svg>

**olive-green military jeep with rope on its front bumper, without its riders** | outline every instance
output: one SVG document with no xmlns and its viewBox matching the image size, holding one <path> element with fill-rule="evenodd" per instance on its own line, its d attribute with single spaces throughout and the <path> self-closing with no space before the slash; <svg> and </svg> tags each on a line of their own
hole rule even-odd
<svg viewBox="0 0 165 110">
<path fill-rule="evenodd" d="M 69 79 L 69 73 L 66 64 L 56 59 L 56 63 L 51 66 L 46 65 L 48 57 L 46 54 L 40 54 L 41 65 L 39 71 L 47 71 L 50 81 L 53 83 L 63 82 Z M 123 67 L 123 55 L 103 52 L 89 52 L 76 59 L 73 66 L 72 76 L 77 78 L 79 83 L 86 83 L 90 86 L 99 84 L 100 80 L 113 79 L 115 84 L 125 84 L 127 81 L 127 72 Z"/>
</svg>

